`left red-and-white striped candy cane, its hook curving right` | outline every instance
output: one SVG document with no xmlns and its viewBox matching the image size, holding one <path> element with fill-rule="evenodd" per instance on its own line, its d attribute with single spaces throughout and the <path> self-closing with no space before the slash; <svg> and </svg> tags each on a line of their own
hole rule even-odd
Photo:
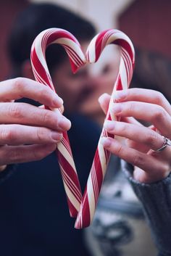
<svg viewBox="0 0 171 256">
<path fill-rule="evenodd" d="M 72 71 L 75 73 L 78 67 L 86 62 L 86 57 L 80 49 L 78 40 L 72 36 L 67 30 L 61 28 L 51 28 L 41 32 L 33 42 L 31 48 L 31 64 L 33 73 L 38 82 L 49 86 L 55 91 L 49 69 L 46 65 L 45 52 L 50 44 L 60 44 L 67 51 L 70 58 Z M 59 111 L 58 109 L 53 111 Z M 82 193 L 80 182 L 75 168 L 75 162 L 70 149 L 70 141 L 67 132 L 63 133 L 62 141 L 57 144 L 57 157 L 62 173 L 64 189 L 67 194 L 67 202 L 70 210 L 70 215 L 76 217 L 80 209 Z"/>
</svg>

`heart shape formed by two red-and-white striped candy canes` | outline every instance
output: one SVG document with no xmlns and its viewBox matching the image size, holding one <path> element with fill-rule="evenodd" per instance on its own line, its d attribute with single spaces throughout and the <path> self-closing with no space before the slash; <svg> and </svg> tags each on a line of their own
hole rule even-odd
<svg viewBox="0 0 171 256">
<path fill-rule="evenodd" d="M 36 80 L 54 90 L 45 57 L 46 48 L 50 44 L 59 44 L 64 47 L 70 59 L 73 73 L 75 73 L 79 67 L 86 65 L 86 63 L 96 62 L 105 46 L 109 44 L 116 44 L 121 47 L 120 69 L 114 83 L 112 96 L 109 102 L 109 109 L 106 116 L 106 120 L 116 120 L 117 117 L 115 117 L 111 111 L 112 102 L 114 101 L 114 92 L 128 88 L 133 76 L 135 51 L 130 38 L 120 30 L 104 30 L 92 39 L 85 56 L 80 48 L 78 40 L 67 30 L 63 30 L 61 28 L 50 28 L 42 31 L 36 37 L 35 41 L 33 41 L 30 54 L 31 64 Z M 60 110 L 56 109 L 52 111 Z M 75 162 L 72 157 L 67 132 L 63 133 L 62 141 L 57 144 L 57 157 L 62 173 L 64 189 L 67 195 L 70 216 L 77 218 L 75 221 L 75 228 L 85 228 L 89 226 L 93 220 L 101 185 L 104 181 L 110 157 L 107 149 L 104 149 L 101 144 L 101 138 L 104 136 L 107 137 L 112 135 L 102 128 L 83 195 L 80 189 L 80 182 L 75 168 Z"/>
</svg>

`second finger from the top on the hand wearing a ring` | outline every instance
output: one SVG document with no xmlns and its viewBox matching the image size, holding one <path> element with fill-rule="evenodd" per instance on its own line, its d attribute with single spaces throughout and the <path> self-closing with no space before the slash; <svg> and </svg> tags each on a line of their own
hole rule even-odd
<svg viewBox="0 0 171 256">
<path fill-rule="evenodd" d="M 163 107 L 146 102 L 114 103 L 114 115 L 118 117 L 134 117 L 152 123 L 164 136 L 170 138 L 171 117 Z"/>
</svg>

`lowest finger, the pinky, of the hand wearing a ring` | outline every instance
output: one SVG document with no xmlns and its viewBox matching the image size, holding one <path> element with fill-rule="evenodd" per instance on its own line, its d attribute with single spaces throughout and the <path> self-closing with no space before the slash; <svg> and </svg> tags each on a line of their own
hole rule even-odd
<svg viewBox="0 0 171 256">
<path fill-rule="evenodd" d="M 159 180 L 166 173 L 170 172 L 170 166 L 163 164 L 163 162 L 151 157 L 149 154 L 144 154 L 138 152 L 135 149 L 128 148 L 127 146 L 122 145 L 119 141 L 112 138 L 102 138 L 101 144 L 105 149 L 109 150 L 112 154 L 117 155 L 122 160 L 129 162 L 130 164 L 141 168 L 144 172 L 147 173 L 147 177 L 150 177 L 151 180 Z M 145 182 L 145 181 L 144 181 Z M 146 181 L 148 182 L 148 181 Z"/>
</svg>

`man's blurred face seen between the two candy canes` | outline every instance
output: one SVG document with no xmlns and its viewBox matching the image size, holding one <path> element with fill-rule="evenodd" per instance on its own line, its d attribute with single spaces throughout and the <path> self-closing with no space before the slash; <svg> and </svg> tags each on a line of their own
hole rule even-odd
<svg viewBox="0 0 171 256">
<path fill-rule="evenodd" d="M 88 43 L 81 45 L 85 51 Z M 78 73 L 73 75 L 69 59 L 64 59 L 54 70 L 52 80 L 57 94 L 64 100 L 64 110 L 67 113 L 80 112 L 80 105 L 93 91 L 93 80 L 88 72 L 88 66 L 81 67 Z"/>
</svg>

